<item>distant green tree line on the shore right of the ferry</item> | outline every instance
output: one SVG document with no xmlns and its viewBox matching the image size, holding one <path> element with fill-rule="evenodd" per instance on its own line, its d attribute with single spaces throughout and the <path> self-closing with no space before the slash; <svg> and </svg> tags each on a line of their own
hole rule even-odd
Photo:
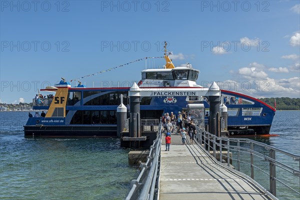
<svg viewBox="0 0 300 200">
<path fill-rule="evenodd" d="M 274 107 L 274 99 L 271 98 L 258 98 L 259 100 Z M 300 98 L 289 98 L 289 97 L 276 97 L 276 109 L 300 109 Z"/>
</svg>

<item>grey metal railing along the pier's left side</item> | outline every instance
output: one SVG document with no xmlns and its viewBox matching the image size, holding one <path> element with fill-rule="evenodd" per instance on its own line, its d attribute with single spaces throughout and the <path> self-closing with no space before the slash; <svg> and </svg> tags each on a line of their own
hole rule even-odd
<svg viewBox="0 0 300 200">
<path fill-rule="evenodd" d="M 136 179 L 131 180 L 129 199 L 159 199 L 159 169 L 162 124 L 159 123 L 156 139 L 150 146 L 149 155 L 145 163 L 140 164 L 141 171 Z"/>
</svg>

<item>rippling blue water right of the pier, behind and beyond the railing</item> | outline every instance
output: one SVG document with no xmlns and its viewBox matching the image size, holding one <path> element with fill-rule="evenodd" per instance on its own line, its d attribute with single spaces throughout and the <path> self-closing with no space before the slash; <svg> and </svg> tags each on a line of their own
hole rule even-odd
<svg viewBox="0 0 300 200">
<path fill-rule="evenodd" d="M 300 155 L 300 111 L 280 111 L 277 110 L 273 119 L 273 123 L 270 129 L 270 134 L 276 134 L 278 136 L 270 137 L 250 137 L 250 139 L 266 143 L 271 146 L 280 148 L 281 150 Z M 249 144 L 246 144 L 249 145 Z M 268 155 L 268 150 L 263 147 L 254 146 L 254 149 L 264 155 Z M 232 152 L 233 158 L 236 157 L 236 152 Z M 241 153 L 240 156 L 243 160 L 249 163 L 249 153 Z M 293 160 L 291 157 L 276 152 L 276 160 L 292 166 L 295 169 L 299 169 L 299 162 Z M 269 189 L 269 163 L 264 159 L 254 157 L 254 163 L 264 170 L 267 174 L 254 168 L 254 179 L 262 185 L 264 188 Z M 236 161 L 233 160 L 232 164 L 236 167 Z M 241 163 L 241 171 L 250 176 L 250 165 L 247 163 Z M 282 170 L 280 167 L 276 167 L 276 178 L 287 183 L 296 191 L 300 191 L 299 177 Z M 300 195 L 295 192 L 291 192 L 290 189 L 276 181 L 276 192 L 279 199 L 300 199 Z"/>
</svg>

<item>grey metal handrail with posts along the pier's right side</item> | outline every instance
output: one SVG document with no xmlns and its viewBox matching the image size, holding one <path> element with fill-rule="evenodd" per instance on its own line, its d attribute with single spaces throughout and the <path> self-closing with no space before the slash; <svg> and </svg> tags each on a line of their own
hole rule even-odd
<svg viewBox="0 0 300 200">
<path fill-rule="evenodd" d="M 290 185 L 288 185 L 288 183 L 284 182 L 282 179 L 278 179 L 278 177 L 276 177 L 276 166 L 278 166 L 280 169 L 291 173 L 293 176 L 296 178 L 299 178 L 300 180 L 300 155 L 296 155 L 284 150 L 281 150 L 277 147 L 274 146 L 270 146 L 267 144 L 264 144 L 262 142 L 258 142 L 258 141 L 254 141 L 251 139 L 247 139 L 247 138 L 228 138 L 228 137 L 218 137 L 215 136 L 214 134 L 211 134 L 205 130 L 203 130 L 202 128 L 196 127 L 197 128 L 197 132 L 198 134 L 195 135 L 196 137 L 196 141 L 199 142 L 199 144 L 203 144 L 204 148 L 208 150 L 207 153 L 209 153 L 209 150 L 213 150 L 213 157 L 216 158 L 215 152 L 217 150 L 219 150 L 220 153 L 220 158 L 219 158 L 219 162 L 222 162 L 222 158 L 227 158 L 227 165 L 230 165 L 230 157 L 229 157 L 229 151 L 235 151 L 236 154 L 236 158 L 233 158 L 233 156 L 231 157 L 231 160 L 236 160 L 237 161 L 237 171 L 240 171 L 240 163 L 248 163 L 250 166 L 250 176 L 252 179 L 254 179 L 254 168 L 262 171 L 263 173 L 266 173 L 269 175 L 269 192 L 276 196 L 276 180 L 281 183 L 282 185 L 284 185 L 286 188 L 289 188 L 290 190 L 292 190 L 293 192 L 295 192 L 297 195 L 300 194 L 300 192 L 297 191 L 297 189 L 292 188 Z M 234 144 L 236 143 L 236 145 Z M 248 146 L 240 146 L 240 144 L 246 144 L 249 145 Z M 258 152 L 258 149 L 254 148 L 256 146 L 259 147 L 263 147 L 263 149 L 265 149 L 268 154 L 266 155 L 266 152 Z M 227 154 L 224 155 L 222 153 L 222 150 L 227 151 Z M 241 156 L 240 153 L 241 152 L 245 152 L 249 154 L 250 157 L 250 161 L 249 160 L 241 160 Z M 291 161 L 294 161 L 294 166 L 288 162 L 288 163 L 283 163 L 281 160 L 278 160 L 278 158 L 276 159 L 276 153 L 282 153 L 284 156 L 287 156 L 289 158 L 291 158 Z M 261 158 L 263 161 L 267 161 L 269 163 L 269 171 L 266 172 L 264 171 L 259 165 L 255 165 L 254 163 L 254 157 L 258 157 Z M 248 157 L 244 157 L 245 159 Z M 299 161 L 298 163 L 296 163 L 296 161 Z M 298 180 L 298 181 L 299 181 Z"/>
</svg>

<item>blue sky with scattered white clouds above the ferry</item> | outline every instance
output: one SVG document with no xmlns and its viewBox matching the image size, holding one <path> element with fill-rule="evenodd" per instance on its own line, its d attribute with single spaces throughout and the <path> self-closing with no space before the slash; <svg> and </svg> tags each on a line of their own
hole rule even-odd
<svg viewBox="0 0 300 200">
<path fill-rule="evenodd" d="M 0 1 L 0 101 L 146 56 L 200 70 L 198 84 L 254 97 L 299 97 L 300 1 Z M 161 67 L 164 60 L 147 60 Z M 138 81 L 145 61 L 81 79 Z M 75 82 L 72 81 L 72 85 Z"/>
</svg>

